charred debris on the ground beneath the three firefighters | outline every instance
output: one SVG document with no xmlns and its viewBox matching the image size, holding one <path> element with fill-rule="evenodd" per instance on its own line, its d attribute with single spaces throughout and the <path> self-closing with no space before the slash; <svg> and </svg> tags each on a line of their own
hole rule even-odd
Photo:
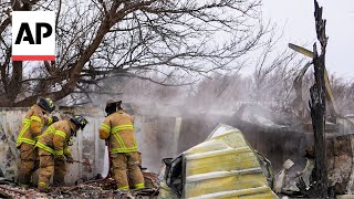
<svg viewBox="0 0 354 199">
<path fill-rule="evenodd" d="M 35 188 L 21 188 L 13 181 L 6 178 L 0 179 L 0 198 L 133 198 L 133 199 L 155 199 L 159 190 L 157 175 L 142 170 L 145 178 L 145 189 L 131 191 L 116 191 L 116 184 L 113 178 L 102 178 L 98 174 L 90 180 L 81 179 L 80 184 L 66 187 L 52 187 L 50 192 L 43 193 Z M 100 178 L 101 176 L 101 178 Z M 77 181 L 76 181 L 77 182 Z"/>
</svg>

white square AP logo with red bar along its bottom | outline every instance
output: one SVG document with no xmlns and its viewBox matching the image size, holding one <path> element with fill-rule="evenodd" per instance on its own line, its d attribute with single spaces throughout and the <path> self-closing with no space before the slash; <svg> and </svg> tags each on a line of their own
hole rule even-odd
<svg viewBox="0 0 354 199">
<path fill-rule="evenodd" d="M 12 12 L 12 61 L 55 60 L 55 12 Z"/>
</svg>

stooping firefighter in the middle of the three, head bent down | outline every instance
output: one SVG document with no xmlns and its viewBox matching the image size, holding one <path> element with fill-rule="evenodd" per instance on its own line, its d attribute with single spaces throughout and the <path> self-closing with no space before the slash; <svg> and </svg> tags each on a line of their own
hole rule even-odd
<svg viewBox="0 0 354 199">
<path fill-rule="evenodd" d="M 87 121 L 76 115 L 67 121 L 54 123 L 41 135 L 35 146 L 39 148 L 40 170 L 39 170 L 39 191 L 48 191 L 50 179 L 54 172 L 53 182 L 60 185 L 64 182 L 66 164 L 73 163 L 67 143 L 76 132 L 83 129 Z"/>
</svg>

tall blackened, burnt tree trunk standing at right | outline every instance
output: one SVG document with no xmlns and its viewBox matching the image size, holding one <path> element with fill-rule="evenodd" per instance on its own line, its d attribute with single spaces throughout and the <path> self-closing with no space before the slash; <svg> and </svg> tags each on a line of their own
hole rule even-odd
<svg viewBox="0 0 354 199">
<path fill-rule="evenodd" d="M 316 44 L 313 44 L 313 65 L 314 65 L 314 85 L 310 88 L 310 108 L 312 117 L 312 126 L 314 132 L 314 150 L 315 150 L 315 168 L 312 174 L 312 182 L 310 188 L 303 179 L 300 179 L 299 188 L 304 197 L 309 198 L 329 198 L 333 197 L 329 193 L 327 166 L 326 166 L 326 147 L 325 147 L 325 48 L 327 44 L 327 36 L 325 35 L 325 23 L 322 19 L 323 8 L 319 7 L 314 0 L 314 17 L 317 40 L 321 43 L 321 54 L 319 55 Z M 332 191 L 330 191 L 332 192 Z"/>
</svg>

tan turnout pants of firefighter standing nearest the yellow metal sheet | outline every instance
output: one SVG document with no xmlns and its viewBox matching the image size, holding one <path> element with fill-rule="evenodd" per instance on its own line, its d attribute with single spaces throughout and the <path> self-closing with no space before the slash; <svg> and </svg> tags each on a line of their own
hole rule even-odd
<svg viewBox="0 0 354 199">
<path fill-rule="evenodd" d="M 119 153 L 111 155 L 112 176 L 118 190 L 128 190 L 129 182 L 134 189 L 145 188 L 140 171 L 138 153 Z"/>
</svg>

